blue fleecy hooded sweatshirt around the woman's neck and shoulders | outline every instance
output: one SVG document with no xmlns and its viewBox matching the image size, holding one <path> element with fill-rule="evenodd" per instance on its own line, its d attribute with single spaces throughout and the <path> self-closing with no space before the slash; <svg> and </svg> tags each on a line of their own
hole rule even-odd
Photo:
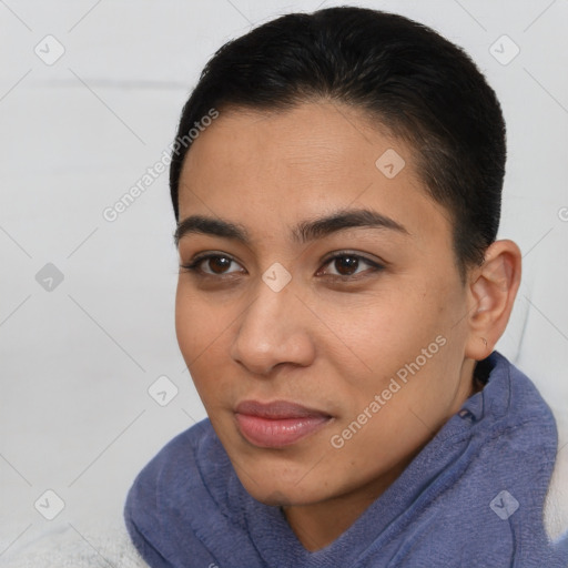
<svg viewBox="0 0 568 568">
<path fill-rule="evenodd" d="M 486 384 L 327 547 L 311 552 L 278 507 L 241 485 L 209 419 L 172 439 L 126 498 L 153 568 L 567 568 L 542 510 L 557 453 L 552 414 L 494 352 Z"/>
</svg>

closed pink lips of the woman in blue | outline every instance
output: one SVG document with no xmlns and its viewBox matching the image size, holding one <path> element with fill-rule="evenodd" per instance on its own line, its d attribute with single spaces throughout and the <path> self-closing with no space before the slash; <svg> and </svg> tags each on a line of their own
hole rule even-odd
<svg viewBox="0 0 568 568">
<path fill-rule="evenodd" d="M 235 409 L 239 432 L 263 448 L 292 446 L 322 429 L 332 416 L 287 400 L 244 400 Z"/>
</svg>

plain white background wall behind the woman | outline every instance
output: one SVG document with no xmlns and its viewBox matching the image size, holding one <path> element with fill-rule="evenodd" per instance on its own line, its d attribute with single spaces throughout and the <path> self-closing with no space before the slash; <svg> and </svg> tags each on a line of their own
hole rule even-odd
<svg viewBox="0 0 568 568">
<path fill-rule="evenodd" d="M 82 534 L 97 520 L 120 521 L 142 466 L 205 416 L 174 334 L 168 174 L 113 223 L 102 212 L 161 159 L 222 43 L 280 13 L 320 6 L 334 2 L 0 1 L 0 556 L 57 524 Z M 497 91 L 509 152 L 500 236 L 525 255 L 498 348 L 540 388 L 562 447 L 568 2 L 359 6 L 438 30 Z M 48 34 L 65 49 L 52 65 L 34 53 Z M 503 34 L 520 48 L 506 65 L 489 52 Z M 36 281 L 47 263 L 64 276 L 51 292 Z M 179 388 L 164 407 L 148 394 L 162 375 Z M 568 446 L 559 459 L 568 462 Z M 47 489 L 65 504 L 52 521 L 33 507 Z"/>
</svg>

